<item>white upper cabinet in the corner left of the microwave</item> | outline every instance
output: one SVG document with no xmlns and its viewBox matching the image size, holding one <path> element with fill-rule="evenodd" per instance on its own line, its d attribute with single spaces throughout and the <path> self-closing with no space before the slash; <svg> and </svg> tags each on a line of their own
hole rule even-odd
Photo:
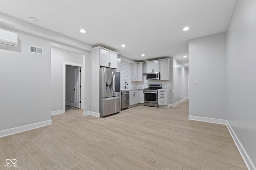
<svg viewBox="0 0 256 170">
<path fill-rule="evenodd" d="M 131 64 L 131 81 L 143 81 L 144 80 L 144 63 L 134 62 Z"/>
</svg>

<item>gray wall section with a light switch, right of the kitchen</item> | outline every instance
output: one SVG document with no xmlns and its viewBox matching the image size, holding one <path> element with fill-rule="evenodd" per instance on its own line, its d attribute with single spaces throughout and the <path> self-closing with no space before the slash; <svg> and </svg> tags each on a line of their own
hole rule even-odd
<svg viewBox="0 0 256 170">
<path fill-rule="evenodd" d="M 225 46 L 225 33 L 189 41 L 189 115 L 228 118 Z"/>
</svg>

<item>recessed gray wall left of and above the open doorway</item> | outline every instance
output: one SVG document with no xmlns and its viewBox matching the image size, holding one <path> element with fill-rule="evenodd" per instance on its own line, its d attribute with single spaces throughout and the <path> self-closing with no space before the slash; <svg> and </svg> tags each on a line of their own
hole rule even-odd
<svg viewBox="0 0 256 170">
<path fill-rule="evenodd" d="M 63 62 L 84 64 L 83 54 L 57 47 L 51 48 L 52 111 L 63 109 Z"/>
</svg>

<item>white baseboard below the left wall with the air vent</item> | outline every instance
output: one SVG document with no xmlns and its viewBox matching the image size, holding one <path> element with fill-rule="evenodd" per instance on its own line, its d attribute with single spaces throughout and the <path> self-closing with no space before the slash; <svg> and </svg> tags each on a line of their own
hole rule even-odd
<svg viewBox="0 0 256 170">
<path fill-rule="evenodd" d="M 44 126 L 48 126 L 48 125 L 52 125 L 52 120 L 41 121 L 38 123 L 32 123 L 29 125 L 24 125 L 24 126 L 14 127 L 11 129 L 2 130 L 2 131 L 0 131 L 0 137 L 5 137 L 5 136 L 13 135 L 16 133 L 24 132 L 24 131 L 29 131 L 32 129 L 36 129 L 36 128 L 44 127 Z"/>
</svg>

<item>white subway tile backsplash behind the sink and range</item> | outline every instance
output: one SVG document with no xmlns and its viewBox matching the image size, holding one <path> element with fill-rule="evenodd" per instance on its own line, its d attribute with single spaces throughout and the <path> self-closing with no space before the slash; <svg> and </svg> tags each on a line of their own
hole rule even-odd
<svg viewBox="0 0 256 170">
<path fill-rule="evenodd" d="M 162 88 L 173 88 L 173 83 L 170 80 L 146 80 L 146 75 L 144 76 L 144 81 L 131 81 L 131 63 L 122 61 L 121 63 L 121 89 L 124 89 L 124 83 L 127 82 L 128 89 L 132 88 L 148 88 L 148 84 L 162 84 Z"/>
</svg>

